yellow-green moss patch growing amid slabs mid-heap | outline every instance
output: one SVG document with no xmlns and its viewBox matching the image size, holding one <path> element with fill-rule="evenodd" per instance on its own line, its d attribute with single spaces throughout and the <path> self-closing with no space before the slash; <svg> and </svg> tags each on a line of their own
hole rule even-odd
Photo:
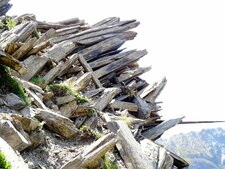
<svg viewBox="0 0 225 169">
<path fill-rule="evenodd" d="M 90 102 L 88 98 L 82 96 L 79 91 L 68 83 L 49 85 L 48 90 L 52 91 L 56 96 L 72 95 L 76 98 L 77 104 Z"/>
</svg>

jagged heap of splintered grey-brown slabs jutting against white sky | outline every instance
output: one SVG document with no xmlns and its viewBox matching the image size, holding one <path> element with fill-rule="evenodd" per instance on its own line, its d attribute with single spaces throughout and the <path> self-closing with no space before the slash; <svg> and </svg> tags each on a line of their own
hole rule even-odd
<svg viewBox="0 0 225 169">
<path fill-rule="evenodd" d="M 3 23 L 6 18 L 2 17 Z M 96 166 L 114 147 L 127 168 L 188 166 L 153 142 L 182 117 L 160 120 L 156 99 L 166 78 L 148 84 L 139 75 L 151 67 L 137 63 L 147 51 L 121 48 L 135 38 L 131 29 L 138 21 L 111 17 L 89 26 L 78 18 L 53 23 L 25 14 L 11 19 L 16 26 L 4 27 L 0 34 L 0 64 L 11 68 L 31 100 L 26 106 L 13 93 L 0 97 L 1 112 L 10 114 L 2 115 L 0 134 L 14 150 L 43 143 L 34 139 L 41 134 L 36 130 L 43 121 L 44 127 L 65 138 L 82 135 L 81 126 L 103 128 L 104 136 L 62 169 Z"/>
</svg>

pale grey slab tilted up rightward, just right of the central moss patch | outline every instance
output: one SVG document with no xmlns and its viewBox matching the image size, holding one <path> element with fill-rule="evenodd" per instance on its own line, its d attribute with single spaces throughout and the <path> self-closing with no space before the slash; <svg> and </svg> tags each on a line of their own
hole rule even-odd
<svg viewBox="0 0 225 169">
<path fill-rule="evenodd" d="M 103 95 L 99 98 L 99 100 L 95 103 L 95 108 L 97 110 L 102 111 L 111 101 L 112 99 L 120 93 L 120 88 L 107 88 L 104 90 Z"/>
</svg>

